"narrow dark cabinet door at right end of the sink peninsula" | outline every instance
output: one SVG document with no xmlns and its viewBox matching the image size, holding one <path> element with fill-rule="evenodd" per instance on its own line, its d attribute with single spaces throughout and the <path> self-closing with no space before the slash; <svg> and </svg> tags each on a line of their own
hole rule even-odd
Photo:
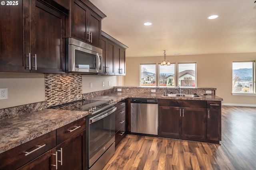
<svg viewBox="0 0 256 170">
<path fill-rule="evenodd" d="M 221 109 L 207 109 L 207 139 L 221 141 Z"/>
</svg>

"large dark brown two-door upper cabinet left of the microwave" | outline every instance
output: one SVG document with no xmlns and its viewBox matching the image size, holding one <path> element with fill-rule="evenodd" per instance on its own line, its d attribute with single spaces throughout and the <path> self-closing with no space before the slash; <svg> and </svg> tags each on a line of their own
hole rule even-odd
<svg viewBox="0 0 256 170">
<path fill-rule="evenodd" d="M 64 73 L 68 10 L 48 1 L 0 6 L 0 71 Z"/>
</svg>

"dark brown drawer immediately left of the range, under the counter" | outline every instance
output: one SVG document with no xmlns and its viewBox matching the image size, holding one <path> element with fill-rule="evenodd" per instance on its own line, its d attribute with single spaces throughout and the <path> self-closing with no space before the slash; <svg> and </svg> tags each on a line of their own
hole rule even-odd
<svg viewBox="0 0 256 170">
<path fill-rule="evenodd" d="M 67 139 L 83 131 L 84 129 L 86 129 L 86 117 L 83 117 L 82 119 L 78 119 L 77 121 L 60 127 L 56 131 L 56 145 L 59 145 L 60 143 L 66 141 Z"/>
</svg>

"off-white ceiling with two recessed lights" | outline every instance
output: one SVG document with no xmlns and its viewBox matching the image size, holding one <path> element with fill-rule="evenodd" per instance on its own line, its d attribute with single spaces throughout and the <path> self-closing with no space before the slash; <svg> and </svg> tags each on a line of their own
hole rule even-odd
<svg viewBox="0 0 256 170">
<path fill-rule="evenodd" d="M 254 0 L 90 1 L 107 16 L 102 31 L 129 47 L 126 57 L 256 52 Z"/>
</svg>

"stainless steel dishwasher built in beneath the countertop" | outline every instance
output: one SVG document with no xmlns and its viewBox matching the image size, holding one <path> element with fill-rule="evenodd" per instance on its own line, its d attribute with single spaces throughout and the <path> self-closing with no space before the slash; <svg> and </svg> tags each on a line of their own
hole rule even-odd
<svg viewBox="0 0 256 170">
<path fill-rule="evenodd" d="M 131 98 L 131 133 L 158 135 L 158 99 Z"/>
</svg>

